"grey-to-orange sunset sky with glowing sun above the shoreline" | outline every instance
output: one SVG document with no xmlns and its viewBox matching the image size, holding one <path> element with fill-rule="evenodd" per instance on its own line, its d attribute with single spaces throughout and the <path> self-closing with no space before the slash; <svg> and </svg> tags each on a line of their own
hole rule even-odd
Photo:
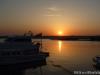
<svg viewBox="0 0 100 75">
<path fill-rule="evenodd" d="M 0 35 L 100 35 L 100 0 L 0 0 Z"/>
</svg>

